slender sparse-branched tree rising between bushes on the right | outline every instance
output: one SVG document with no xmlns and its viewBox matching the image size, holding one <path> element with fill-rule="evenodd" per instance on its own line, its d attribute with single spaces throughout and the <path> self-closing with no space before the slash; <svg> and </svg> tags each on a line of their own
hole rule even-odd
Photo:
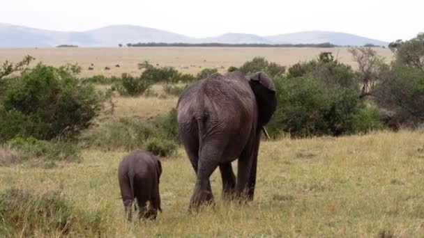
<svg viewBox="0 0 424 238">
<path fill-rule="evenodd" d="M 361 86 L 360 97 L 372 94 L 375 84 L 379 79 L 381 65 L 384 65 L 384 58 L 379 56 L 370 47 L 349 47 L 348 51 L 358 63 L 358 79 Z"/>
</svg>

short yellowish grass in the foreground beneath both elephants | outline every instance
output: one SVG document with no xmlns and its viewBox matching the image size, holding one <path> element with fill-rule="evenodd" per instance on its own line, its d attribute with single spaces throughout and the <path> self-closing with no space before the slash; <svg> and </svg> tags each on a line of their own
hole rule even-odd
<svg viewBox="0 0 424 238">
<path fill-rule="evenodd" d="M 118 97 L 116 101 L 119 117 L 139 114 L 136 108 L 154 114 L 172 107 L 176 98 Z M 0 167 L 0 191 L 61 189 L 76 207 L 100 216 L 100 237 L 424 235 L 422 130 L 263 141 L 255 200 L 248 205 L 222 201 L 220 175 L 215 171 L 211 178 L 215 207 L 191 215 L 186 209 L 195 173 L 180 148 L 174 157 L 162 160 L 163 213 L 148 223 L 124 220 L 116 178 L 124 154 L 90 149 L 82 151 L 77 164 Z M 31 212 L 31 207 L 26 209 Z M 80 237 L 86 231 L 79 232 L 69 235 Z"/>
</svg>

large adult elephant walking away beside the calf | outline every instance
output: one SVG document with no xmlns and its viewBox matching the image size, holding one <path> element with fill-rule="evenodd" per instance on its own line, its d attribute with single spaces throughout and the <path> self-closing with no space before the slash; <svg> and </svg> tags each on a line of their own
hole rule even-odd
<svg viewBox="0 0 424 238">
<path fill-rule="evenodd" d="M 276 106 L 275 86 L 263 72 L 212 74 L 179 98 L 181 141 L 197 175 L 189 210 L 212 202 L 209 177 L 219 166 L 224 198 L 253 199 L 261 131 Z M 231 162 L 239 158 L 237 178 Z"/>
</svg>

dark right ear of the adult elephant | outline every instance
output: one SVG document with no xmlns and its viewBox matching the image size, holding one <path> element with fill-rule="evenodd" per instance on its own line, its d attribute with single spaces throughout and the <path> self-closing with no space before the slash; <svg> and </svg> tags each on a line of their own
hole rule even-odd
<svg viewBox="0 0 424 238">
<path fill-rule="evenodd" d="M 271 120 L 277 107 L 275 85 L 272 79 L 264 72 L 253 74 L 250 77 L 249 84 L 255 94 L 258 105 L 258 124 L 263 126 Z"/>
</svg>

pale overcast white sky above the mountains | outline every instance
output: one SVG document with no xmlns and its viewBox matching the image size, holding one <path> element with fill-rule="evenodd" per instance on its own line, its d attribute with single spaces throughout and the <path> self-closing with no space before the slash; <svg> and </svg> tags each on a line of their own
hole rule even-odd
<svg viewBox="0 0 424 238">
<path fill-rule="evenodd" d="M 392 41 L 424 31 L 423 9 L 422 0 L 13 0 L 1 3 L 0 22 L 60 31 L 133 24 L 195 37 L 342 31 Z"/>
</svg>

